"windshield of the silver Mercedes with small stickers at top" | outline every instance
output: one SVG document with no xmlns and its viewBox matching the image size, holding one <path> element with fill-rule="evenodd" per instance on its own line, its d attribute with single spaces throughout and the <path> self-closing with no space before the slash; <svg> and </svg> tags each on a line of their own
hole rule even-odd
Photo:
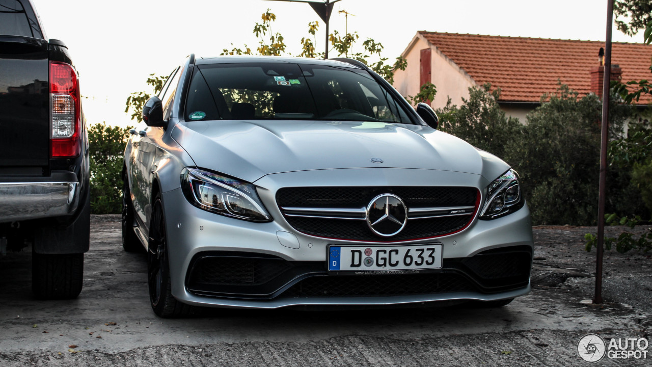
<svg viewBox="0 0 652 367">
<path fill-rule="evenodd" d="M 291 63 L 197 65 L 185 119 L 412 123 L 367 71 Z"/>
</svg>

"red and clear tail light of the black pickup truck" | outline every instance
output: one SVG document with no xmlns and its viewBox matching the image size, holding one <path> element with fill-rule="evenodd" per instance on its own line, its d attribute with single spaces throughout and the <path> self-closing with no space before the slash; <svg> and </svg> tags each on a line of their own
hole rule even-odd
<svg viewBox="0 0 652 367">
<path fill-rule="evenodd" d="M 72 65 L 50 61 L 50 155 L 76 157 L 82 152 L 82 116 L 77 72 Z"/>
</svg>

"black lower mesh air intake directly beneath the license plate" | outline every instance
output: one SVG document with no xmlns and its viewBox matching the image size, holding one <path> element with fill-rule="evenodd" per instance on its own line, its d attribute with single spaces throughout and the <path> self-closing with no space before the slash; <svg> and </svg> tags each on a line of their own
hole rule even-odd
<svg viewBox="0 0 652 367">
<path fill-rule="evenodd" d="M 283 297 L 374 297 L 430 295 L 475 291 L 459 274 L 400 274 L 381 276 L 314 276 L 293 285 Z"/>
</svg>

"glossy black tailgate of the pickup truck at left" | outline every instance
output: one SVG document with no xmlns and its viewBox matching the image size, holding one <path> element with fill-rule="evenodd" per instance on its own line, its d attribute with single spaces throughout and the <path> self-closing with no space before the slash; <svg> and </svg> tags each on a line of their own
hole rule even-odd
<svg viewBox="0 0 652 367">
<path fill-rule="evenodd" d="M 48 42 L 0 36 L 0 174 L 48 166 Z"/>
</svg>

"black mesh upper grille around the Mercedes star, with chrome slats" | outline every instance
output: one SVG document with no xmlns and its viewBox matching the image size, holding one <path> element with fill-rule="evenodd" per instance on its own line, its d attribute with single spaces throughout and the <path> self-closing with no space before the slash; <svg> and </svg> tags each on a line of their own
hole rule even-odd
<svg viewBox="0 0 652 367">
<path fill-rule="evenodd" d="M 333 214 L 336 209 L 359 211 L 383 193 L 400 197 L 409 210 L 455 207 L 466 207 L 467 210 L 457 216 L 447 216 L 449 213 L 445 211 L 433 217 L 409 214 L 404 229 L 389 238 L 377 236 L 369 229 L 364 212 L 349 214 L 351 217 L 348 218 Z M 276 202 L 288 224 L 299 232 L 343 240 L 395 242 L 443 236 L 464 229 L 473 220 L 478 195 L 475 187 L 284 187 L 276 192 Z M 330 209 L 330 212 L 306 215 L 300 211 L 301 208 L 312 211 L 323 208 L 325 211 Z M 297 213 L 299 215 L 292 215 Z"/>
</svg>

